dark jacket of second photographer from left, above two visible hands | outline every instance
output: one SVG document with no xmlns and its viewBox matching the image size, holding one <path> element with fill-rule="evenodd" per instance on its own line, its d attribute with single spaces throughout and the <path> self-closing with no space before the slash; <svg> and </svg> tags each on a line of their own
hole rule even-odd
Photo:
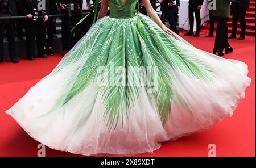
<svg viewBox="0 0 256 168">
<path fill-rule="evenodd" d="M 51 1 L 51 0 L 50 0 Z M 34 14 L 34 8 L 37 8 L 38 1 L 36 0 L 16 0 L 20 15 L 26 16 Z M 46 15 L 49 15 L 49 0 L 46 0 Z"/>
</svg>

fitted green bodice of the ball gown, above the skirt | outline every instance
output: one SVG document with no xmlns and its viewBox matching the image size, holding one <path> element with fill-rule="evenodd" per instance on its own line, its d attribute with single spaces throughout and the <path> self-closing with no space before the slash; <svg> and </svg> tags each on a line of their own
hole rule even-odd
<svg viewBox="0 0 256 168">
<path fill-rule="evenodd" d="M 135 16 L 137 0 L 109 0 L 110 17 L 132 18 Z"/>
</svg>

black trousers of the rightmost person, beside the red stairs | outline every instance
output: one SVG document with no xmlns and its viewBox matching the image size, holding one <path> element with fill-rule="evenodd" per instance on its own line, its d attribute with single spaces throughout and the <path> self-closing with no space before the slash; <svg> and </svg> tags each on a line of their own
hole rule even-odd
<svg viewBox="0 0 256 168">
<path fill-rule="evenodd" d="M 246 14 L 246 8 L 245 7 L 239 7 L 238 3 L 232 3 L 231 6 L 232 9 L 232 35 L 236 35 L 237 33 L 237 22 L 239 18 L 240 22 L 240 28 L 241 28 L 241 36 L 245 36 L 245 29 L 246 29 L 246 22 L 245 22 L 245 14 Z"/>
</svg>

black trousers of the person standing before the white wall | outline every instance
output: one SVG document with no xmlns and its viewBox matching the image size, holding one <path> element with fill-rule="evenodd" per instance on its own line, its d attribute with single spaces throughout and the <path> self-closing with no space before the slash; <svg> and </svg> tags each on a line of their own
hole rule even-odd
<svg viewBox="0 0 256 168">
<path fill-rule="evenodd" d="M 189 17 L 189 32 L 193 32 L 194 28 L 194 13 L 196 16 L 196 33 L 200 33 L 201 18 L 200 10 L 197 9 L 198 5 L 189 3 L 188 5 L 188 17 Z"/>
</svg>

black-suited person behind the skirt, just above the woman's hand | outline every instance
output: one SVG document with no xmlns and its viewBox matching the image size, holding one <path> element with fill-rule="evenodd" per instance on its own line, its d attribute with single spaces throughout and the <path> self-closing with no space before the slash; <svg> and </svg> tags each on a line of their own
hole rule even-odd
<svg viewBox="0 0 256 168">
<path fill-rule="evenodd" d="M 164 14 L 169 20 L 170 29 L 175 33 L 179 33 L 177 24 L 179 19 L 180 0 L 165 0 L 163 3 Z"/>
</svg>

